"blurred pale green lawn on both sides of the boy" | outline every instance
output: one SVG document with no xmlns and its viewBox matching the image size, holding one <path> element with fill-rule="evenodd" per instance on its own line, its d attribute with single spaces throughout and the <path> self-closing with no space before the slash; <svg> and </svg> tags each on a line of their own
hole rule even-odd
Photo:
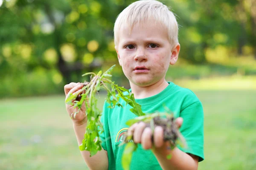
<svg viewBox="0 0 256 170">
<path fill-rule="evenodd" d="M 253 170 L 256 91 L 195 94 L 205 112 L 205 160 L 199 170 Z M 87 169 L 64 96 L 2 99 L 0 115 L 0 170 Z"/>
</svg>

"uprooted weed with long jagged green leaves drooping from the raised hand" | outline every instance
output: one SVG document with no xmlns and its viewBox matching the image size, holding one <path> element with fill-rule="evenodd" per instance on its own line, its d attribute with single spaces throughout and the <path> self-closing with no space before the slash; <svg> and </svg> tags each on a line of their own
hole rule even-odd
<svg viewBox="0 0 256 170">
<path fill-rule="evenodd" d="M 94 76 L 91 78 L 90 82 L 84 83 L 84 87 L 81 89 L 81 91 L 85 91 L 85 93 L 81 94 L 80 100 L 76 100 L 79 97 L 79 94 L 76 93 L 70 94 L 70 96 L 68 96 L 65 101 L 67 104 L 74 105 L 74 108 L 78 108 L 78 111 L 73 113 L 74 117 L 76 117 L 76 114 L 81 109 L 83 102 L 85 102 L 87 127 L 86 133 L 84 134 L 84 139 L 82 141 L 82 144 L 79 146 L 79 149 L 90 151 L 90 156 L 95 155 L 99 150 L 102 149 L 101 141 L 99 139 L 99 129 L 103 131 L 103 127 L 99 119 L 101 116 L 101 111 L 97 108 L 96 99 L 96 93 L 101 88 L 105 89 L 108 92 L 106 101 L 110 104 L 110 108 L 114 108 L 116 105 L 122 107 L 122 105 L 119 103 L 119 98 L 122 98 L 126 102 L 126 104 L 131 105 L 132 113 L 137 116 L 145 115 L 145 113 L 142 112 L 140 105 L 135 102 L 134 94 L 132 94 L 130 91 L 123 87 L 119 87 L 114 82 L 112 82 L 111 79 L 109 79 L 110 77 L 112 77 L 111 71 L 113 70 L 114 66 L 115 65 L 113 65 L 103 74 L 102 71 L 99 71 L 98 74 L 83 74 L 82 76 Z M 124 95 L 123 92 L 127 92 L 127 94 Z M 73 100 L 75 100 L 74 103 L 72 103 Z"/>
</svg>

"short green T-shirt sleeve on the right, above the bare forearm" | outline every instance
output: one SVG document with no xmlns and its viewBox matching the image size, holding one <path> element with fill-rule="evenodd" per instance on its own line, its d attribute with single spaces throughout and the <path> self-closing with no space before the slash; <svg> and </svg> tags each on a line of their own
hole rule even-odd
<svg viewBox="0 0 256 170">
<path fill-rule="evenodd" d="M 204 160 L 204 111 L 200 101 L 193 102 L 180 111 L 183 124 L 180 133 L 186 140 L 187 147 L 179 147 L 185 153 L 191 153 Z"/>
</svg>

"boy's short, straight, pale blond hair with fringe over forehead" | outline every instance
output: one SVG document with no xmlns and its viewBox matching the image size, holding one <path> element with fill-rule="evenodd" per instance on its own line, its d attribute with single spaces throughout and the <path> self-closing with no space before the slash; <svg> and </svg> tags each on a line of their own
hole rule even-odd
<svg viewBox="0 0 256 170">
<path fill-rule="evenodd" d="M 119 43 L 119 30 L 122 25 L 127 25 L 129 30 L 137 23 L 160 24 L 168 31 L 171 45 L 178 42 L 178 24 L 175 15 L 169 7 L 157 0 L 139 0 L 131 3 L 116 18 L 114 25 L 115 45 Z"/>
</svg>

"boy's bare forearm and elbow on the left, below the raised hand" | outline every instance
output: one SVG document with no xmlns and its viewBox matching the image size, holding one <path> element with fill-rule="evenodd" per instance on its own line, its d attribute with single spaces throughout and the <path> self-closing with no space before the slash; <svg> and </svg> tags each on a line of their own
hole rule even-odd
<svg viewBox="0 0 256 170">
<path fill-rule="evenodd" d="M 86 124 L 73 124 L 73 128 L 76 133 L 77 142 L 80 145 L 84 139 Z M 108 170 L 108 153 L 106 150 L 102 149 L 92 157 L 90 157 L 89 151 L 83 150 L 80 152 L 90 170 Z"/>
</svg>

